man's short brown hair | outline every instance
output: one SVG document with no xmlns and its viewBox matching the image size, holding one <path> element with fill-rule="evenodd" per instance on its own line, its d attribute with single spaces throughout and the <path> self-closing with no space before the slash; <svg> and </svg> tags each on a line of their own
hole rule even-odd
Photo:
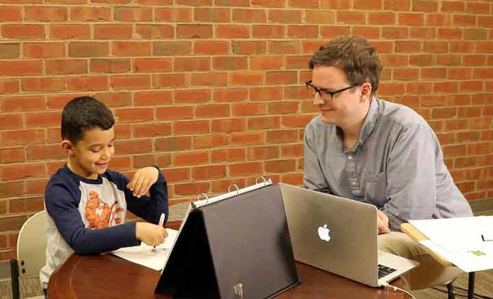
<svg viewBox="0 0 493 299">
<path fill-rule="evenodd" d="M 378 89 L 382 65 L 377 50 L 359 36 L 343 36 L 320 47 L 309 61 L 314 66 L 338 66 L 350 84 L 370 82 L 372 94 Z"/>
</svg>

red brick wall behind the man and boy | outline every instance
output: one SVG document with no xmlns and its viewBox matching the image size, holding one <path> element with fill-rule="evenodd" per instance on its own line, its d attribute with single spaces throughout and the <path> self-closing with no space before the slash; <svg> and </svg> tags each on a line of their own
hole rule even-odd
<svg viewBox="0 0 493 299">
<path fill-rule="evenodd" d="M 314 49 L 372 40 L 378 96 L 438 133 L 468 200 L 493 197 L 492 1 L 0 0 L 0 260 L 64 164 L 60 111 L 91 94 L 116 118 L 112 168 L 159 164 L 175 203 L 299 184 Z"/>
</svg>

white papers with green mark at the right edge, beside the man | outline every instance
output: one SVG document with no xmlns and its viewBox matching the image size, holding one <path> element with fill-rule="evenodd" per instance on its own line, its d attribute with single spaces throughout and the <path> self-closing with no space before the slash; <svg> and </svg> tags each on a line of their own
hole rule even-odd
<svg viewBox="0 0 493 299">
<path fill-rule="evenodd" d="M 493 217 L 478 216 L 409 221 L 429 240 L 420 244 L 466 272 L 493 269 Z M 483 236 L 483 237 L 482 237 Z"/>
</svg>

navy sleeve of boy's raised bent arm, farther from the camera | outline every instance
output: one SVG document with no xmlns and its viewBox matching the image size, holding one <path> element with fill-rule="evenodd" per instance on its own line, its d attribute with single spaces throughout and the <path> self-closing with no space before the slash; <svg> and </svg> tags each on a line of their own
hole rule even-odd
<svg viewBox="0 0 493 299">
<path fill-rule="evenodd" d="M 157 166 L 157 181 L 151 185 L 149 189 L 150 196 L 142 196 L 140 198 L 134 196 L 132 191 L 127 188 L 129 179 L 119 172 L 109 172 L 109 175 L 118 185 L 118 189 L 123 190 L 125 193 L 125 200 L 127 200 L 127 209 L 134 213 L 136 216 L 147 220 L 153 224 L 158 224 L 162 213 L 166 218 L 164 223 L 168 221 L 168 183 L 164 179 L 164 175 Z"/>
</svg>

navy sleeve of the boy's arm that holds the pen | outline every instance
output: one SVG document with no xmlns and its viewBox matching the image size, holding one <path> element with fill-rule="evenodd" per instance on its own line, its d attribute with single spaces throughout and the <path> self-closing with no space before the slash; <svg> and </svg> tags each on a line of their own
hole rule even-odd
<svg viewBox="0 0 493 299">
<path fill-rule="evenodd" d="M 86 229 L 77 200 L 65 185 L 51 185 L 45 194 L 45 205 L 60 235 L 75 253 L 91 255 L 140 244 L 135 223 L 107 229 Z"/>
</svg>

